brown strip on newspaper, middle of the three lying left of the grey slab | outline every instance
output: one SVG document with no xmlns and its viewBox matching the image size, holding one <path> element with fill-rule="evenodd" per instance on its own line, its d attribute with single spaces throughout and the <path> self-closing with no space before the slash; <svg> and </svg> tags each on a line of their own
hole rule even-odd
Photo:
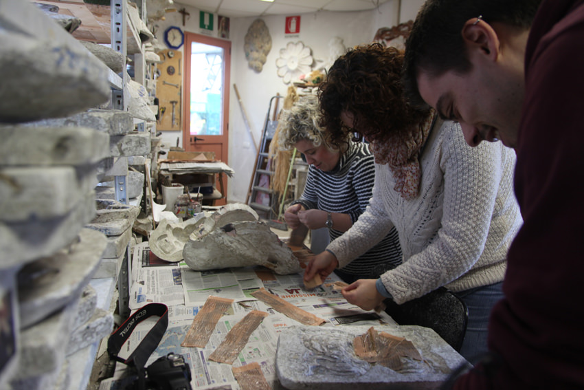
<svg viewBox="0 0 584 390">
<path fill-rule="evenodd" d="M 258 329 L 264 318 L 269 316 L 266 312 L 253 310 L 232 327 L 225 336 L 225 340 L 210 354 L 209 359 L 214 362 L 232 364 L 243 347 L 247 344 L 249 336 Z"/>
</svg>

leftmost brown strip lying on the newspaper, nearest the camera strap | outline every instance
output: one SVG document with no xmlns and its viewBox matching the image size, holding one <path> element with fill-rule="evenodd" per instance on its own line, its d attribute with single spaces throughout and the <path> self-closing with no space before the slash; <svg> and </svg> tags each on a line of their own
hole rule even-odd
<svg viewBox="0 0 584 390">
<path fill-rule="evenodd" d="M 209 296 L 207 301 L 205 301 L 205 305 L 194 316 L 181 346 L 204 348 L 215 330 L 219 318 L 229 310 L 233 302 L 233 299 L 220 298 L 213 295 Z"/>
</svg>

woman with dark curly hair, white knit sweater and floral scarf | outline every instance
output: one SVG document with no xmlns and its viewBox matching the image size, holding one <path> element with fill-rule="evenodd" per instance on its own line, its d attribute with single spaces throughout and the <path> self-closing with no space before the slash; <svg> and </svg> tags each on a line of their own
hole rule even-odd
<svg viewBox="0 0 584 390">
<path fill-rule="evenodd" d="M 501 142 L 471 148 L 458 123 L 409 105 L 402 65 L 403 52 L 393 47 L 356 47 L 319 86 L 330 142 L 342 144 L 352 132 L 365 137 L 375 184 L 365 213 L 311 261 L 304 279 L 346 267 L 397 228 L 401 265 L 342 294 L 371 310 L 384 299 L 401 304 L 445 286 L 467 304 L 460 353 L 470 360 L 486 351 L 488 314 L 502 297 L 507 249 L 521 225 L 515 153 Z"/>
</svg>

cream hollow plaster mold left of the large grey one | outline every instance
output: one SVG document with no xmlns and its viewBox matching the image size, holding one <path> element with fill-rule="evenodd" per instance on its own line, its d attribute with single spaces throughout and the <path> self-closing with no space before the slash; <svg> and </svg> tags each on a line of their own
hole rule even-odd
<svg viewBox="0 0 584 390">
<path fill-rule="evenodd" d="M 162 219 L 148 238 L 150 250 L 164 261 L 170 263 L 181 261 L 183 259 L 183 248 L 189 236 L 204 221 L 205 213 L 199 213 L 190 219 L 186 219 L 186 221 Z"/>
</svg>

